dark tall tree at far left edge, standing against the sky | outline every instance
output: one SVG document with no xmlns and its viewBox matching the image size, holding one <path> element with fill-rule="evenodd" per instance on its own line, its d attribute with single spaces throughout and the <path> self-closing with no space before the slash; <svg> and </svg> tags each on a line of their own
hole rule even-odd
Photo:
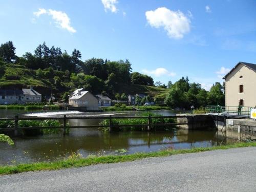
<svg viewBox="0 0 256 192">
<path fill-rule="evenodd" d="M 5 62 L 13 63 L 15 62 L 15 47 L 13 46 L 12 41 L 8 41 L 5 44 L 0 46 L 0 57 L 3 58 Z"/>
</svg>

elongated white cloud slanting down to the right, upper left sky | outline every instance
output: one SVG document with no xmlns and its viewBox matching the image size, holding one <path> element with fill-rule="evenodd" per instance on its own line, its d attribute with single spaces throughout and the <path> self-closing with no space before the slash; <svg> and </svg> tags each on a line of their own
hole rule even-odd
<svg viewBox="0 0 256 192">
<path fill-rule="evenodd" d="M 66 29 L 71 33 L 76 32 L 76 30 L 71 26 L 69 16 L 65 12 L 56 11 L 52 9 L 39 9 L 37 12 L 34 12 L 33 14 L 37 17 L 39 17 L 42 14 L 48 14 L 49 16 L 52 16 L 52 19 L 54 20 L 57 27 Z"/>
</svg>

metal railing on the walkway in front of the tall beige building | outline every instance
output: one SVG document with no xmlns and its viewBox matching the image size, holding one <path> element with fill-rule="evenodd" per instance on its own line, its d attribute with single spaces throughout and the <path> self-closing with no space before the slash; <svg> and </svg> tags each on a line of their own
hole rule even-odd
<svg viewBox="0 0 256 192">
<path fill-rule="evenodd" d="M 205 108 L 206 113 L 218 113 L 222 115 L 238 115 L 238 116 L 250 116 L 251 106 L 219 106 L 219 105 L 207 105 Z"/>
</svg>

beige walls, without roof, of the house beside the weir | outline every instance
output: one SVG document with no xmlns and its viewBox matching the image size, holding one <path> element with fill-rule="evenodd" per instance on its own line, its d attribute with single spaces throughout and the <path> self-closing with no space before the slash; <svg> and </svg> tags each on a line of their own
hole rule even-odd
<svg viewBox="0 0 256 192">
<path fill-rule="evenodd" d="M 76 100 L 69 100 L 69 104 L 72 106 L 86 107 L 87 110 L 99 110 L 98 99 L 88 92 L 83 95 L 81 98 Z"/>
</svg>

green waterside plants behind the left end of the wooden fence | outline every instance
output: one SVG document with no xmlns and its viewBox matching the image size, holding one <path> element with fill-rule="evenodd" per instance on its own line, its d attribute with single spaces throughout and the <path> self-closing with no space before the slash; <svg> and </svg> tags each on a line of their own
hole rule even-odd
<svg viewBox="0 0 256 192">
<path fill-rule="evenodd" d="M 61 123 L 58 120 L 19 120 L 18 127 L 46 127 L 46 126 L 61 126 Z M 0 121 L 0 129 L 14 128 L 14 121 L 12 120 L 1 120 Z M 67 133 L 69 129 L 67 127 Z M 5 132 L 5 131 L 3 131 Z M 26 129 L 22 130 L 22 135 L 26 136 L 34 136 L 34 135 L 44 135 L 44 134 L 57 134 L 62 132 L 62 129 Z"/>
</svg>

